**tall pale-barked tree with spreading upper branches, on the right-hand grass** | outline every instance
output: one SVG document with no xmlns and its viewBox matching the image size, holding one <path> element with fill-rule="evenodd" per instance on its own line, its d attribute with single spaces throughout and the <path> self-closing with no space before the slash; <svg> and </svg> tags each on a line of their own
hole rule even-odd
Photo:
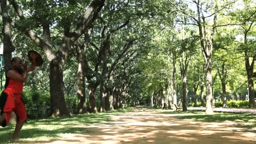
<svg viewBox="0 0 256 144">
<path fill-rule="evenodd" d="M 175 6 L 177 11 L 180 11 L 191 18 L 191 25 L 195 25 L 198 27 L 199 37 L 200 37 L 200 45 L 203 53 L 203 57 L 205 60 L 205 72 L 206 72 L 206 109 L 205 113 L 212 115 L 213 114 L 213 91 L 212 91 L 212 75 L 211 75 L 211 66 L 212 66 L 212 51 L 213 51 L 213 39 L 216 32 L 216 20 L 217 15 L 225 8 L 228 8 L 230 5 L 235 3 L 235 1 L 225 1 L 222 5 L 219 5 L 218 0 L 214 1 L 201 1 L 201 0 L 193 0 L 193 5 L 197 8 L 196 11 L 187 11 L 179 8 L 177 5 L 183 1 L 179 1 L 179 3 L 173 3 L 169 0 L 171 5 Z M 204 7 L 204 8 L 203 8 Z M 210 11 L 210 8 L 213 8 L 213 12 Z M 204 9 L 204 10 L 203 10 Z M 206 12 L 206 13 L 205 13 Z M 206 15 L 206 16 L 205 16 Z M 209 18 L 212 19 L 212 25 L 209 27 L 210 23 Z"/>
</svg>

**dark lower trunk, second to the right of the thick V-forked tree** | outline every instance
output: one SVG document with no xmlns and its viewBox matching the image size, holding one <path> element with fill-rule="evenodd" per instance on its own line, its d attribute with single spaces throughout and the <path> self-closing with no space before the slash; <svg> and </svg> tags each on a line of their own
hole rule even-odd
<svg viewBox="0 0 256 144">
<path fill-rule="evenodd" d="M 88 90 L 89 90 L 89 112 L 92 112 L 92 113 L 97 113 L 96 98 L 95 98 L 96 88 L 97 87 L 94 87 L 93 84 L 89 83 L 89 85 L 88 85 Z"/>
</svg>

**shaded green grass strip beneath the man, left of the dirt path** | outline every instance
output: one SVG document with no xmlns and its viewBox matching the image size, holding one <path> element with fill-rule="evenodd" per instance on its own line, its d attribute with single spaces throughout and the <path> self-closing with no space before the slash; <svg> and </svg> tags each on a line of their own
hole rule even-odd
<svg viewBox="0 0 256 144">
<path fill-rule="evenodd" d="M 81 128 L 80 125 L 108 122 L 113 115 L 124 112 L 133 112 L 132 109 L 119 109 L 111 112 L 73 115 L 71 117 L 48 118 L 40 120 L 27 120 L 21 129 L 18 141 L 15 142 L 40 142 L 51 141 L 67 133 L 93 133 L 91 128 Z M 0 127 L 0 144 L 11 143 L 10 139 L 15 125 Z"/>
</svg>

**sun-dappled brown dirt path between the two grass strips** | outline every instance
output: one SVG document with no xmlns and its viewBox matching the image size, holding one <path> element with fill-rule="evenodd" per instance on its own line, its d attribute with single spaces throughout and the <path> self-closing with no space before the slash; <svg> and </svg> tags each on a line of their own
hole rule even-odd
<svg viewBox="0 0 256 144">
<path fill-rule="evenodd" d="M 238 128 L 233 122 L 195 122 L 176 118 L 186 114 L 136 111 L 114 116 L 112 122 L 81 125 L 90 131 L 47 144 L 256 144 L 255 130 Z"/>
</svg>

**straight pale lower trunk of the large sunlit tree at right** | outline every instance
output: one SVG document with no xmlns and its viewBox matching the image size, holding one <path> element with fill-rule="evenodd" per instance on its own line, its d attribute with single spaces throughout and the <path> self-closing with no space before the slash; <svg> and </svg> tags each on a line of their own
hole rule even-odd
<svg viewBox="0 0 256 144">
<path fill-rule="evenodd" d="M 213 114 L 213 92 L 212 92 L 212 75 L 211 75 L 211 57 L 206 61 L 206 109 L 207 115 Z"/>
</svg>

